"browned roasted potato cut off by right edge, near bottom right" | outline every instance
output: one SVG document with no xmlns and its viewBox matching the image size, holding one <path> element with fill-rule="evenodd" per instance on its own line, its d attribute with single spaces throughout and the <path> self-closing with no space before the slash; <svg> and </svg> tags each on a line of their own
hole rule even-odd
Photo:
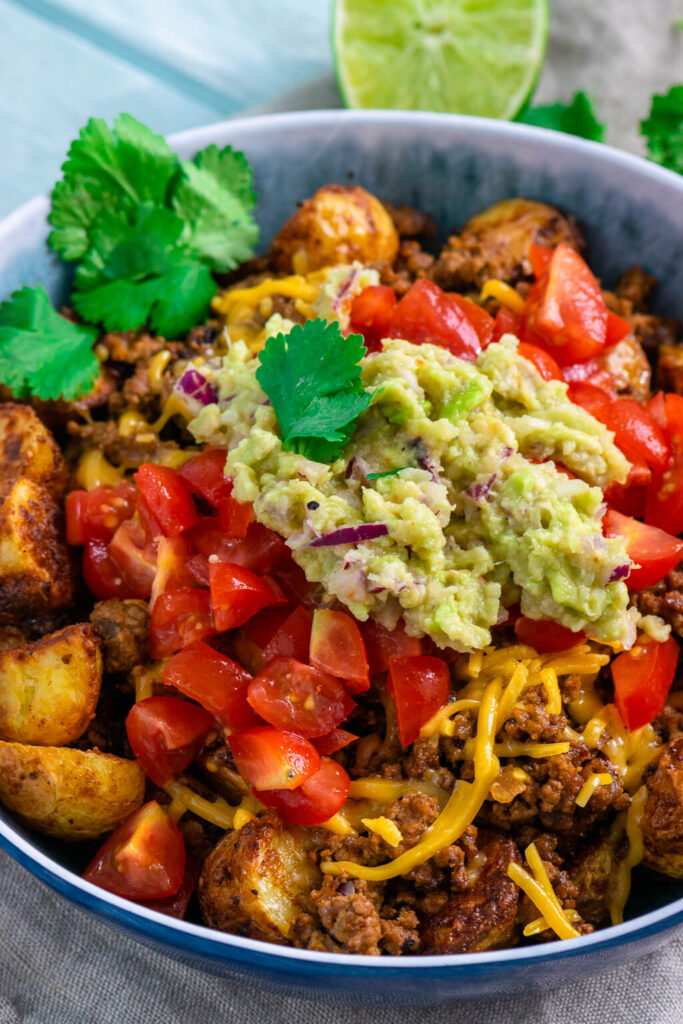
<svg viewBox="0 0 683 1024">
<path fill-rule="evenodd" d="M 645 779 L 643 863 L 683 879 L 683 736 L 667 743 Z"/>
</svg>

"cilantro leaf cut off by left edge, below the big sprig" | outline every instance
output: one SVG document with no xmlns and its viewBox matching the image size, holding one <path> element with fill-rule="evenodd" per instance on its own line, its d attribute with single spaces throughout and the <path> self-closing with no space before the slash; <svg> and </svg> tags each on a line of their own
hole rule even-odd
<svg viewBox="0 0 683 1024">
<path fill-rule="evenodd" d="M 17 397 L 78 398 L 99 373 L 96 337 L 60 316 L 44 288 L 22 288 L 0 305 L 0 380 Z"/>
</svg>

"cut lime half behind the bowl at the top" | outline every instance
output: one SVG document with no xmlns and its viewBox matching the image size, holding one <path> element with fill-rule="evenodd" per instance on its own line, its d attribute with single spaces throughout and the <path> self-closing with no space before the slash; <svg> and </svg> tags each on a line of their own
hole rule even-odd
<svg viewBox="0 0 683 1024">
<path fill-rule="evenodd" d="M 548 0 L 336 0 L 347 106 L 514 118 L 533 91 Z"/>
</svg>

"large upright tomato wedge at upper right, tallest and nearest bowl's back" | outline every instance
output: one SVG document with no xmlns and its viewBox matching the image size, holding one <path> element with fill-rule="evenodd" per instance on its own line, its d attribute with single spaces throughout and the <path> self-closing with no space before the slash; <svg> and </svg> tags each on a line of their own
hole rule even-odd
<svg viewBox="0 0 683 1024">
<path fill-rule="evenodd" d="M 548 266 L 532 286 L 523 323 L 544 340 L 560 366 L 584 362 L 604 348 L 607 307 L 600 286 L 566 243 L 553 249 Z"/>
</svg>

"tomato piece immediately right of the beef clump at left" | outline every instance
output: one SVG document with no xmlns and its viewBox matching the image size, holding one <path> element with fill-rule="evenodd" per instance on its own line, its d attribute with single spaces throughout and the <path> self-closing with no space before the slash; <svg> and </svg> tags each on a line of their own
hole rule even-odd
<svg viewBox="0 0 683 1024">
<path fill-rule="evenodd" d="M 206 590 L 180 587 L 161 594 L 150 616 L 150 653 L 169 657 L 177 650 L 216 633 Z"/>
</svg>

